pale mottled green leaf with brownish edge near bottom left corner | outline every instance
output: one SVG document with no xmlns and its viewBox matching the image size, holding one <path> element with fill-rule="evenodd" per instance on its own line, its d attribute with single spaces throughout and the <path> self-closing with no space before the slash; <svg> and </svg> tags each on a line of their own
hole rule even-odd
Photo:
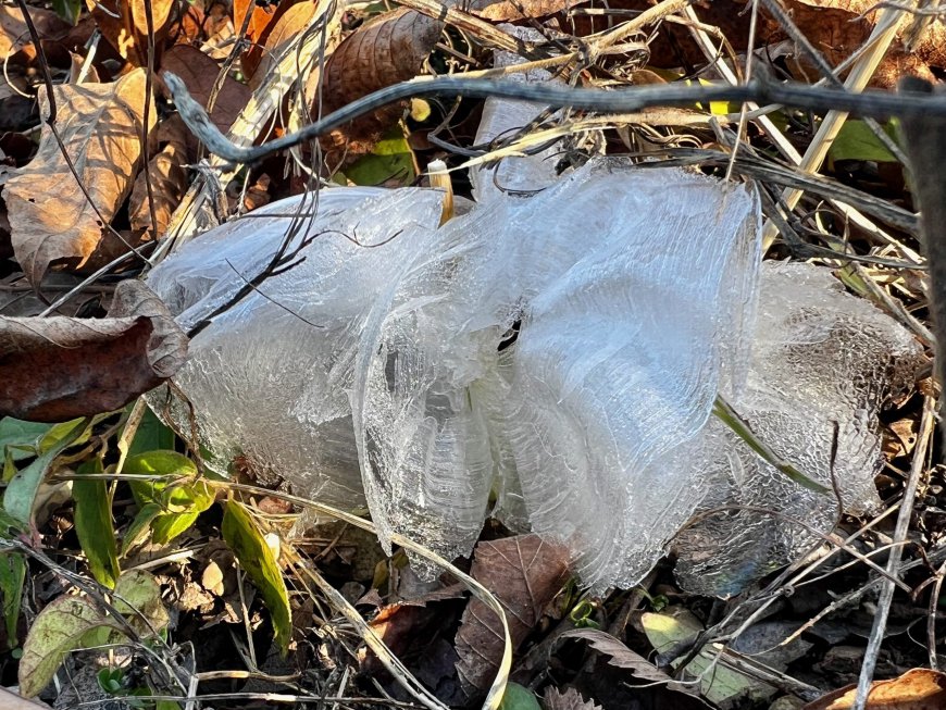
<svg viewBox="0 0 946 710">
<path fill-rule="evenodd" d="M 63 596 L 37 614 L 20 659 L 20 694 L 32 698 L 49 685 L 69 651 L 83 648 L 89 632 L 114 631 L 87 599 Z"/>
</svg>

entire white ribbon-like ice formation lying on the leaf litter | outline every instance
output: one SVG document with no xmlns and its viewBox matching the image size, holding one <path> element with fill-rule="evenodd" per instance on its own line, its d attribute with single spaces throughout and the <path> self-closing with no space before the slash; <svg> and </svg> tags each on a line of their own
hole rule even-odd
<svg viewBox="0 0 946 710">
<path fill-rule="evenodd" d="M 433 190 L 327 190 L 294 216 L 311 208 L 269 205 L 149 278 L 190 328 L 284 239 L 302 246 L 197 335 L 175 377 L 221 466 L 241 456 L 299 495 L 366 502 L 383 543 L 448 558 L 495 501 L 511 526 L 565 541 L 598 588 L 636 583 L 675 538 L 684 583 L 729 594 L 830 530 L 837 506 L 711 418 L 721 393 L 846 509 L 875 502 L 877 408 L 921 349 L 825 269 L 767 264 L 760 279 L 750 188 L 593 160 L 439 227 Z"/>
</svg>

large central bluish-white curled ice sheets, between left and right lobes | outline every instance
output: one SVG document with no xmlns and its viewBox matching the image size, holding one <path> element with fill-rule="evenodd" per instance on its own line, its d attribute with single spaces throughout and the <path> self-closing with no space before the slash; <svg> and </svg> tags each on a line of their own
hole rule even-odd
<svg viewBox="0 0 946 710">
<path fill-rule="evenodd" d="M 701 497 L 664 461 L 709 416 L 723 344 L 746 338 L 757 221 L 742 186 L 593 161 L 440 228 L 359 349 L 382 537 L 469 552 L 498 473 L 586 582 L 635 582 Z"/>
</svg>

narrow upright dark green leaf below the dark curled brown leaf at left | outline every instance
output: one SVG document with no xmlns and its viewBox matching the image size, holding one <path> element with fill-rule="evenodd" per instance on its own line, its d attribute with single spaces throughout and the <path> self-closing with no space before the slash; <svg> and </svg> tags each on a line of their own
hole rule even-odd
<svg viewBox="0 0 946 710">
<path fill-rule="evenodd" d="M 80 465 L 77 473 L 102 471 L 102 460 L 96 458 Z M 75 531 L 89 569 L 99 584 L 111 589 L 121 573 L 112 525 L 112 497 L 103 479 L 83 478 L 80 475 L 73 482 L 72 496 L 75 500 Z"/>
</svg>

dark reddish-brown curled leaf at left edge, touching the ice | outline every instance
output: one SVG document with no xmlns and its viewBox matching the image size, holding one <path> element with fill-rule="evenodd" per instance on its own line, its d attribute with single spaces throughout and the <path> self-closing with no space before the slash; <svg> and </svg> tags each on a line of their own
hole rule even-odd
<svg viewBox="0 0 946 710">
<path fill-rule="evenodd" d="M 105 319 L 0 316 L 0 416 L 64 422 L 113 411 L 186 357 L 187 336 L 135 279 L 119 284 Z"/>
</svg>

